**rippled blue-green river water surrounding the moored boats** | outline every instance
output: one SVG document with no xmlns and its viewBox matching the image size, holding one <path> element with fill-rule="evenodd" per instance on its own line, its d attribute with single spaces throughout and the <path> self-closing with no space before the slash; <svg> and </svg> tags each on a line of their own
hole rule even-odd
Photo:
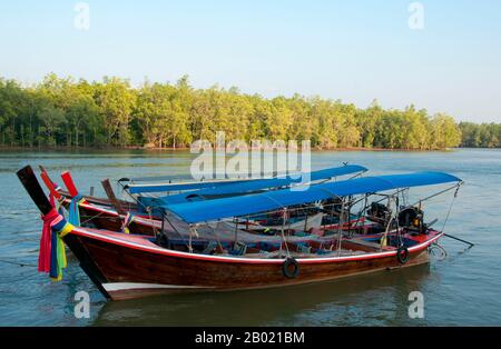
<svg viewBox="0 0 501 349">
<path fill-rule="evenodd" d="M 466 185 L 455 201 L 446 232 L 477 243 L 465 250 L 443 239 L 449 256 L 430 266 L 386 271 L 334 282 L 265 291 L 177 295 L 106 302 L 77 261 L 69 257 L 62 282 L 38 275 L 39 213 L 14 172 L 43 164 L 53 177 L 71 169 L 87 192 L 104 177 L 187 174 L 188 153 L 179 152 L 3 152 L 0 153 L 0 325 L 1 326 L 458 326 L 501 325 L 501 151 L 317 152 L 313 168 L 350 161 L 371 173 L 448 171 Z M 100 193 L 98 188 L 97 193 Z M 415 189 L 425 196 L 429 190 Z M 425 206 L 426 220 L 443 218 L 451 195 Z M 442 227 L 440 221 L 436 227 Z M 19 267 L 7 261 L 23 262 Z M 90 319 L 76 319 L 73 295 L 91 297 Z M 424 295 L 425 318 L 407 316 L 409 292 Z"/>
</svg>

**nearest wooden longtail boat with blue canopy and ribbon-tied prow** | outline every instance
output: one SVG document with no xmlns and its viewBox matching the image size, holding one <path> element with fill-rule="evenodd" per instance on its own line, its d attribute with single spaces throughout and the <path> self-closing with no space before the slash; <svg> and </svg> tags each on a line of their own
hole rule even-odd
<svg viewBox="0 0 501 349">
<path fill-rule="evenodd" d="M 45 196 L 32 169 L 18 177 L 51 227 L 53 241 L 62 240 L 80 261 L 84 271 L 109 299 L 128 299 L 179 291 L 220 291 L 293 286 L 341 277 L 402 268 L 429 262 L 429 248 L 443 232 L 423 221 L 419 208 L 395 211 L 384 232 L 371 236 L 344 236 L 341 230 L 328 237 L 287 237 L 246 240 L 235 229 L 232 236 L 219 231 L 220 219 L 245 217 L 274 209 L 356 195 L 387 192 L 399 188 L 453 183 L 461 180 L 442 172 L 416 172 L 365 177 L 311 186 L 304 191 L 288 189 L 210 201 L 166 207 L 171 218 L 183 222 L 178 237 L 124 235 L 108 230 L 72 227 L 58 215 Z M 395 196 L 389 195 L 389 198 Z M 404 215 L 402 215 L 404 213 Z M 169 223 L 176 225 L 169 220 Z M 186 228 L 184 230 L 183 228 Z M 205 229 L 205 230 L 204 230 Z M 212 239 L 202 237 L 203 230 Z M 47 231 L 45 229 L 45 231 Z M 218 241 L 220 232 L 228 239 Z M 252 235 L 249 235 L 252 236 Z M 275 240 L 274 240 L 275 239 Z M 230 239 L 229 239 L 230 240 Z M 60 245 L 57 245 L 58 248 Z M 61 261 L 51 255 L 51 277 L 60 278 Z"/>
</svg>

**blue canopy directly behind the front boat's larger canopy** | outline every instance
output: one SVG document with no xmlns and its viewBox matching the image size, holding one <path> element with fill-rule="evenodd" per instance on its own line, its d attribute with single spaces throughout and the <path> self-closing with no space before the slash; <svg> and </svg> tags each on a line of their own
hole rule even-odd
<svg viewBox="0 0 501 349">
<path fill-rule="evenodd" d="M 175 205 L 188 201 L 199 201 L 214 197 L 229 197 L 246 193 L 255 193 L 261 190 L 274 189 L 281 187 L 288 187 L 293 185 L 301 185 L 304 182 L 312 182 L 318 180 L 327 180 L 338 176 L 364 172 L 367 168 L 358 164 L 345 164 L 343 167 L 328 168 L 306 173 L 291 173 L 283 178 L 255 179 L 247 181 L 233 182 L 232 185 L 219 186 L 214 188 L 206 188 L 190 192 L 183 192 L 179 195 L 160 197 L 157 199 L 149 199 L 148 202 L 153 206 L 158 205 Z"/>
</svg>

